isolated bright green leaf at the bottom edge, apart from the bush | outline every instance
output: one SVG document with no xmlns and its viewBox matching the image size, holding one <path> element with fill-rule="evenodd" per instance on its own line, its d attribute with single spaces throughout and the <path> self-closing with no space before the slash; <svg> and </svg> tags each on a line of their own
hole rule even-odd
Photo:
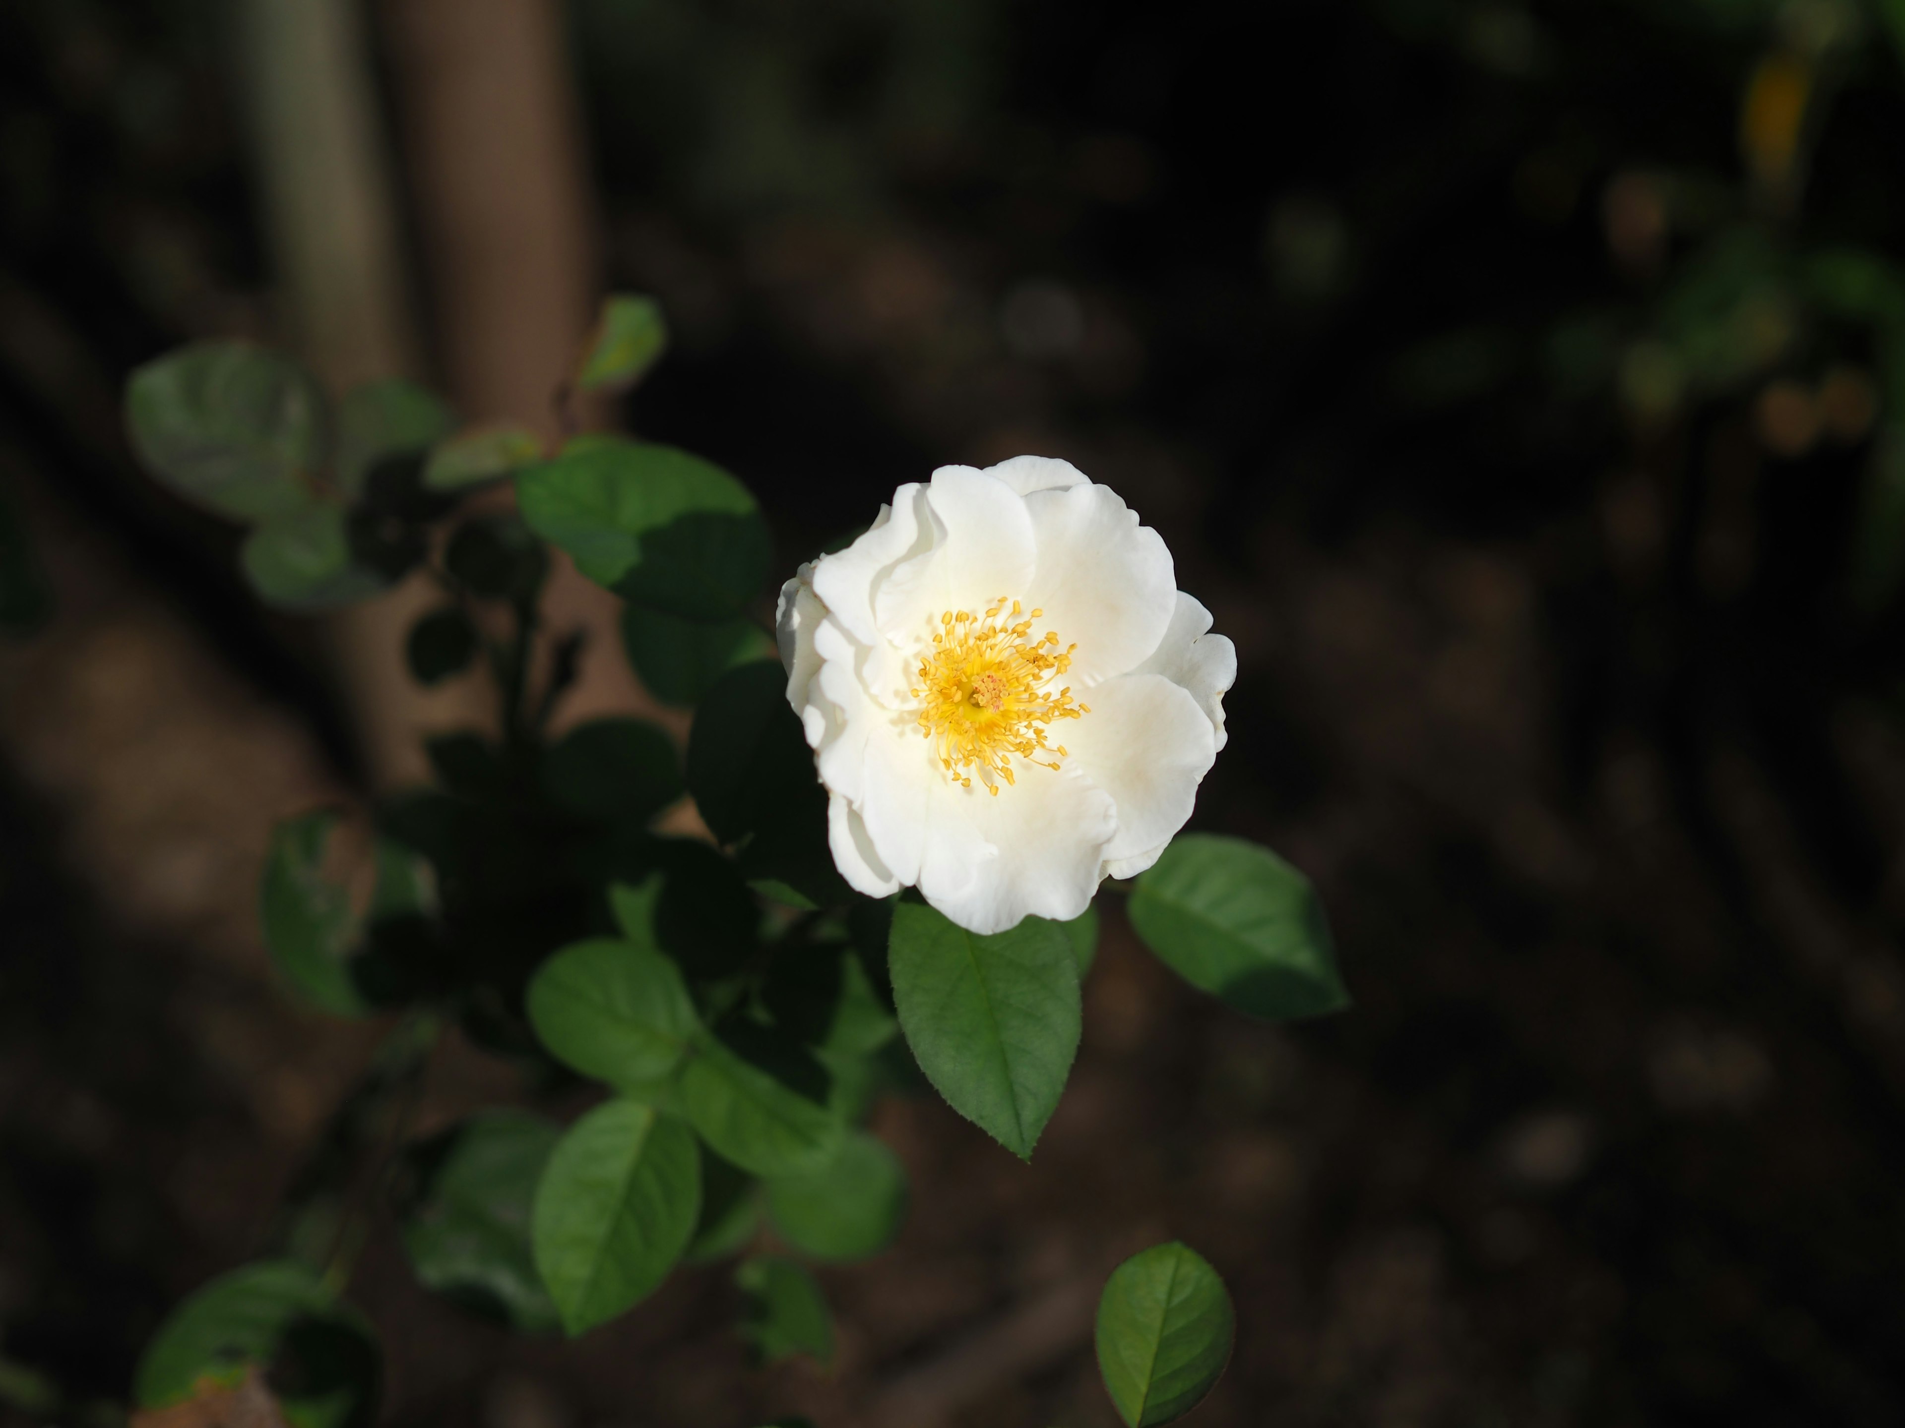
<svg viewBox="0 0 1905 1428">
<path fill-rule="evenodd" d="M 1097 1300 L 1097 1367 L 1130 1428 L 1194 1409 L 1223 1375 L 1236 1316 L 1217 1272 L 1172 1241 L 1113 1270 Z"/>
</svg>

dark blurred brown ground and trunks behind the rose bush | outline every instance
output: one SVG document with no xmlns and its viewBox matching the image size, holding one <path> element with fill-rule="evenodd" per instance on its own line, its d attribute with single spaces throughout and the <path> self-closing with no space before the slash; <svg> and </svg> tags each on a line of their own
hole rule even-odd
<svg viewBox="0 0 1905 1428">
<path fill-rule="evenodd" d="M 1356 1007 L 1248 1024 L 1111 906 L 1029 1169 L 876 1118 L 914 1209 L 825 1274 L 832 1375 L 747 1373 L 716 1272 L 509 1339 L 385 1230 L 391 1422 L 1109 1428 L 1080 1285 L 1170 1236 L 1238 1300 L 1212 1428 L 1905 1422 L 1901 46 L 1895 0 L 0 0 L 0 1413 L 122 1398 L 269 1241 L 370 1051 L 271 979 L 271 821 L 457 712 L 391 611 L 261 611 L 128 369 L 251 335 L 547 421 L 615 286 L 674 348 L 602 417 L 787 569 L 1021 451 L 1156 526 L 1240 655 L 1193 826 L 1318 882 Z M 427 1120 L 512 1087 L 453 1049 Z"/>
</svg>

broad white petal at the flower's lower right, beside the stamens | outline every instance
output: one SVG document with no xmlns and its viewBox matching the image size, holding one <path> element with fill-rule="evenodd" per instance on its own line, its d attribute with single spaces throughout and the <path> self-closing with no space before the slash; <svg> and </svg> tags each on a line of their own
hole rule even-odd
<svg viewBox="0 0 1905 1428">
<path fill-rule="evenodd" d="M 1118 832 L 1105 847 L 1116 863 L 1168 843 L 1196 803 L 1196 786 L 1217 758 L 1210 720 L 1191 693 L 1162 674 L 1126 674 L 1092 689 L 1092 712 L 1061 724 L 1076 767 L 1118 805 Z"/>
</svg>

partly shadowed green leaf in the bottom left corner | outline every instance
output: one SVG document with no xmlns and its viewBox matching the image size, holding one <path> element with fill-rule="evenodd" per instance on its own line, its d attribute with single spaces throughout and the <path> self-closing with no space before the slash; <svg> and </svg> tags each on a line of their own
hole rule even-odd
<svg viewBox="0 0 1905 1428">
<path fill-rule="evenodd" d="M 139 1359 L 133 1398 L 143 1409 L 171 1407 L 200 1378 L 229 1380 L 250 1363 L 272 1371 L 295 1428 L 371 1420 L 379 1361 L 370 1325 L 291 1260 L 246 1264 L 179 1304 Z"/>
</svg>

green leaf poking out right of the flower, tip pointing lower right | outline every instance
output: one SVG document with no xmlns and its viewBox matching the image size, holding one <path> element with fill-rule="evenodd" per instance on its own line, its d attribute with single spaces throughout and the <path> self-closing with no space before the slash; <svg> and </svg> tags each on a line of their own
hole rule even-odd
<svg viewBox="0 0 1905 1428">
<path fill-rule="evenodd" d="M 1183 834 L 1137 878 L 1130 916 L 1177 975 L 1252 1017 L 1349 1005 L 1316 889 L 1267 847 Z"/>
</svg>

